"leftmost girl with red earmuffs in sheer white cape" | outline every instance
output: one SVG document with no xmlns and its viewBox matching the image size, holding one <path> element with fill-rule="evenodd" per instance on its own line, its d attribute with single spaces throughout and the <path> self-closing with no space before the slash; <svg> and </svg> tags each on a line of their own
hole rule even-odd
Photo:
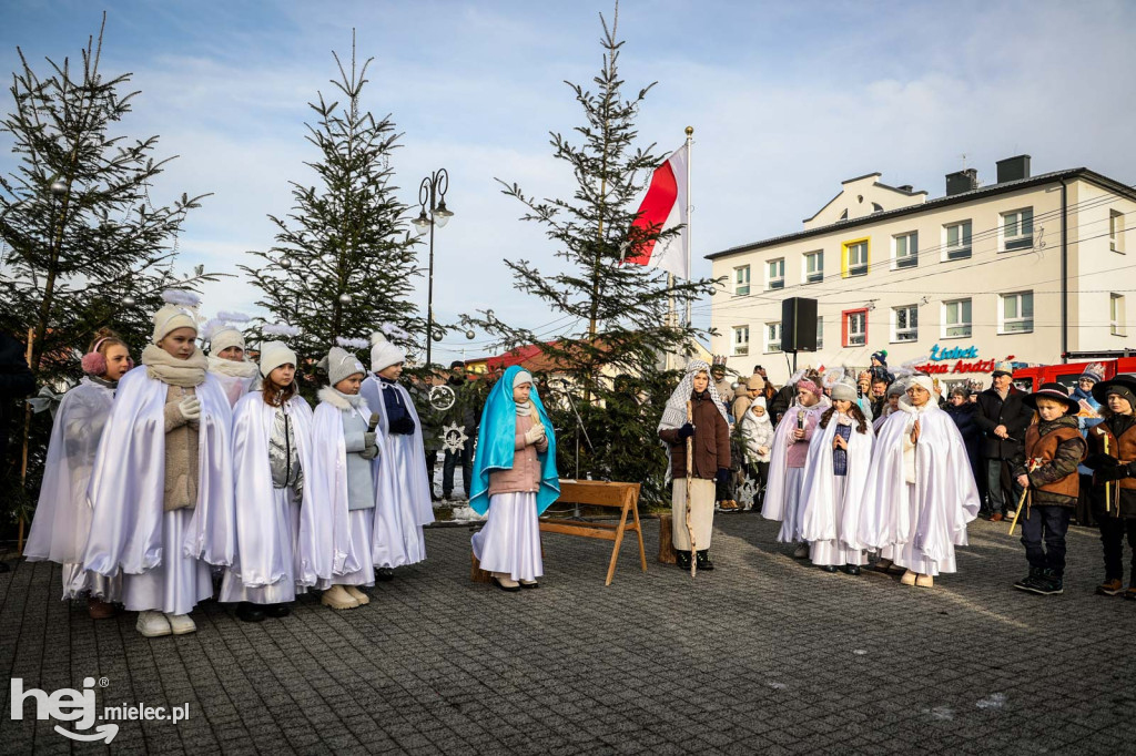
<svg viewBox="0 0 1136 756">
<path fill-rule="evenodd" d="M 86 488 L 118 379 L 134 367 L 134 361 L 126 343 L 115 331 L 102 328 L 83 355 L 82 367 L 83 378 L 64 395 L 56 412 L 40 502 L 24 556 L 28 562 L 61 564 L 64 598 L 89 594 L 91 618 L 102 620 L 115 615 L 114 603 L 122 599 L 123 579 L 120 573 L 106 577 L 82 569 L 91 531 Z"/>
</svg>

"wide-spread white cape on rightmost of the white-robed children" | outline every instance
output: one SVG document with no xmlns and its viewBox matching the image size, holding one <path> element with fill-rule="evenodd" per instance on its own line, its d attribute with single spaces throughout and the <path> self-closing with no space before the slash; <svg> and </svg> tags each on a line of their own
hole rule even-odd
<svg viewBox="0 0 1136 756">
<path fill-rule="evenodd" d="M 919 419 L 919 443 L 908 455 L 904 439 Z M 951 417 L 933 401 L 920 409 L 900 403 L 876 439 L 868 472 L 859 537 L 866 548 L 894 547 L 896 564 L 921 574 L 954 572 L 954 547 L 967 545 L 967 523 L 978 516 L 978 489 L 967 447 Z"/>
</svg>

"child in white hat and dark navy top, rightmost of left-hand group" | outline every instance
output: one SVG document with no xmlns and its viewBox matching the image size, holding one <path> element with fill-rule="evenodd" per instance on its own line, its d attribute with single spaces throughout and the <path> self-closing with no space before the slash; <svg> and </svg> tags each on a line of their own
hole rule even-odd
<svg viewBox="0 0 1136 756">
<path fill-rule="evenodd" d="M 423 468 L 421 421 L 410 394 L 398 383 L 406 352 L 382 331 L 374 333 L 370 343 L 371 375 L 362 381 L 360 394 L 379 417 L 374 556 L 376 577 L 390 580 L 394 568 L 426 558 L 423 526 L 434 521 L 434 505 Z"/>
</svg>

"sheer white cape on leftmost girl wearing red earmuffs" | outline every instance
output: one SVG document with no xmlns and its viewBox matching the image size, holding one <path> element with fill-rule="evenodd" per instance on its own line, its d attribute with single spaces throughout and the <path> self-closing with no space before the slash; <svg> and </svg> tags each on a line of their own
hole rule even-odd
<svg viewBox="0 0 1136 756">
<path fill-rule="evenodd" d="M 114 388 L 84 377 L 64 395 L 51 428 L 43 485 L 24 556 L 28 562 L 65 566 L 64 598 L 89 590 L 114 602 L 122 594 L 120 574 L 108 578 L 80 566 L 91 532 L 86 488 L 114 401 Z"/>
</svg>

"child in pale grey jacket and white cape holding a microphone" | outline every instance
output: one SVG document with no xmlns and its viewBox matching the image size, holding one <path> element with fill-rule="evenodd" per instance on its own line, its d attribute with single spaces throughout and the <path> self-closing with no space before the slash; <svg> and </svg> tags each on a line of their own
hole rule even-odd
<svg viewBox="0 0 1136 756">
<path fill-rule="evenodd" d="M 370 603 L 359 586 L 375 585 L 378 438 L 371 410 L 359 394 L 366 370 L 358 358 L 333 346 L 318 367 L 328 385 L 319 389 L 312 417 L 311 474 L 304 474 L 309 496 L 300 523 L 301 582 L 323 590 L 325 606 L 350 610 Z"/>
</svg>

